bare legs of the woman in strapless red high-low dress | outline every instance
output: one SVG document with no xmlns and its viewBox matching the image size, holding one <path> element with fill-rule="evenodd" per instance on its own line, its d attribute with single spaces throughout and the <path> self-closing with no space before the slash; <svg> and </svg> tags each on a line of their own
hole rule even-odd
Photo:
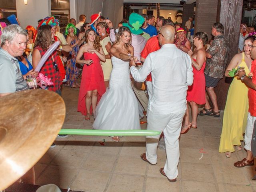
<svg viewBox="0 0 256 192">
<path fill-rule="evenodd" d="M 86 98 L 85 98 L 85 106 L 87 110 L 87 114 L 85 117 L 86 120 L 90 120 L 91 105 L 92 105 L 92 114 L 94 114 L 94 110 L 97 105 L 97 100 L 98 100 L 98 90 L 87 91 Z"/>
</svg>

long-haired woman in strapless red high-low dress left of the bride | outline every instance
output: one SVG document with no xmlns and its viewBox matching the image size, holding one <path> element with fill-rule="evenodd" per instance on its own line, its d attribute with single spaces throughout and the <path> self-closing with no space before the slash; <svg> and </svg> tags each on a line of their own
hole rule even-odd
<svg viewBox="0 0 256 192">
<path fill-rule="evenodd" d="M 78 108 L 85 120 L 90 120 L 90 114 L 94 114 L 97 103 L 102 94 L 106 92 L 104 85 L 104 76 L 100 61 L 105 62 L 106 56 L 100 45 L 100 38 L 93 29 L 85 32 L 86 44 L 81 46 L 76 62 L 84 65 L 82 80 L 78 97 Z M 84 55 L 84 60 L 80 58 Z"/>
</svg>

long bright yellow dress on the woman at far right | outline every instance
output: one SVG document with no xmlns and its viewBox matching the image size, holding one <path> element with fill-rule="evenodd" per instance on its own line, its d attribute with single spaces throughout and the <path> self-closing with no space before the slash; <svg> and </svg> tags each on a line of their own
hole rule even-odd
<svg viewBox="0 0 256 192">
<path fill-rule="evenodd" d="M 242 53 L 242 62 L 238 66 L 244 67 L 246 74 L 249 74 L 250 71 L 244 61 L 244 53 Z M 224 110 L 220 153 L 234 152 L 234 145 L 241 145 L 240 140 L 244 140 L 243 133 L 246 128 L 248 108 L 248 87 L 240 79 L 234 77 L 228 89 Z"/>
</svg>

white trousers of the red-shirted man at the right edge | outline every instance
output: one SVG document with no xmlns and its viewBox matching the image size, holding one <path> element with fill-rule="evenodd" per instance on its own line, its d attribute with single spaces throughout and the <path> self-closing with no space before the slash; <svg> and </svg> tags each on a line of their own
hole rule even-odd
<svg viewBox="0 0 256 192">
<path fill-rule="evenodd" d="M 245 134 L 244 134 L 244 144 L 245 144 L 244 148 L 249 151 L 252 151 L 251 142 L 252 142 L 252 132 L 253 132 L 255 120 L 256 120 L 256 117 L 253 117 L 251 116 L 250 113 L 248 113 L 247 125 L 246 125 Z"/>
</svg>

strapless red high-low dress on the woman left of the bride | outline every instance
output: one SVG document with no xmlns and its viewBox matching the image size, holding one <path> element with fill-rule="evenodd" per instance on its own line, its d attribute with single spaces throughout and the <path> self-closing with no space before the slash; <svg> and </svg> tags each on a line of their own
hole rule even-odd
<svg viewBox="0 0 256 192">
<path fill-rule="evenodd" d="M 100 65 L 100 59 L 94 53 L 84 53 L 84 60 L 93 60 L 93 63 L 89 66 L 86 64 L 83 67 L 81 86 L 78 96 L 78 107 L 77 111 L 81 112 L 83 115 L 87 114 L 85 106 L 85 98 L 87 91 L 98 90 L 98 100 L 100 101 L 101 96 L 106 92 L 106 87 L 104 84 L 104 76 L 102 67 Z M 92 107 L 90 108 L 90 113 L 92 113 Z"/>
</svg>

